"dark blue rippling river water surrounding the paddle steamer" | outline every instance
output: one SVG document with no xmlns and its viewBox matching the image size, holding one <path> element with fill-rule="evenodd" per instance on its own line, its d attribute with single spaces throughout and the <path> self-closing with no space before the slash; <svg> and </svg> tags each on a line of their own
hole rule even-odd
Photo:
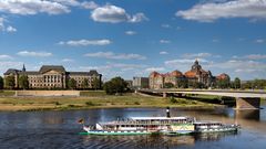
<svg viewBox="0 0 266 149">
<path fill-rule="evenodd" d="M 131 149 L 131 148 L 197 148 L 197 149 L 265 149 L 266 104 L 260 110 L 178 109 L 172 108 L 172 116 L 193 116 L 202 120 L 236 123 L 239 132 L 204 134 L 197 136 L 81 136 L 85 124 L 115 120 L 131 116 L 165 116 L 164 108 L 115 108 L 68 111 L 17 111 L 0 113 L 0 148 L 43 149 Z"/>
</svg>

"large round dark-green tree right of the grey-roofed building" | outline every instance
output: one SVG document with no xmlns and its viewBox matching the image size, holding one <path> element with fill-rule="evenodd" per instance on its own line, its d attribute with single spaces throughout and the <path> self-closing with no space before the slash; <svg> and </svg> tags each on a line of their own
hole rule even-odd
<svg viewBox="0 0 266 149">
<path fill-rule="evenodd" d="M 122 77 L 114 77 L 103 85 L 106 94 L 122 94 L 127 91 L 127 83 Z"/>
</svg>

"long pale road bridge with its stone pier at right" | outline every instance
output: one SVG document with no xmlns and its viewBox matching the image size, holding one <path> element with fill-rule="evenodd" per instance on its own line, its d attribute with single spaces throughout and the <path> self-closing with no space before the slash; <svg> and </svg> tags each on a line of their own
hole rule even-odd
<svg viewBox="0 0 266 149">
<path fill-rule="evenodd" d="M 143 94 L 158 94 L 163 97 L 170 95 L 185 96 L 193 95 L 215 95 L 222 97 L 236 98 L 236 109 L 259 109 L 260 98 L 266 98 L 266 92 L 248 92 L 248 91 L 224 91 L 224 89 L 139 89 Z"/>
</svg>

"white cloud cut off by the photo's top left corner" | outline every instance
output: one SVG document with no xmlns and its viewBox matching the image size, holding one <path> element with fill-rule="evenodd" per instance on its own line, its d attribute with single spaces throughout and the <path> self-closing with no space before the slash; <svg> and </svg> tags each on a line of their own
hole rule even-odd
<svg viewBox="0 0 266 149">
<path fill-rule="evenodd" d="M 1 0 L 0 12 L 32 15 L 37 13 L 61 14 L 70 9 L 60 2 L 48 0 Z"/>
</svg>

